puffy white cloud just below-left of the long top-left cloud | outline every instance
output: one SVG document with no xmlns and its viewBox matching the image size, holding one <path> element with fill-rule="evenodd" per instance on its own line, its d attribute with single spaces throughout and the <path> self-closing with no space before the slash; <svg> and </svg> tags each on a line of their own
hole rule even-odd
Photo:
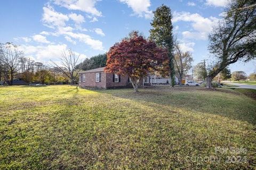
<svg viewBox="0 0 256 170">
<path fill-rule="evenodd" d="M 69 20 L 67 15 L 54 11 L 50 5 L 43 7 L 43 11 L 42 21 L 50 28 L 64 27 Z"/>
</svg>

